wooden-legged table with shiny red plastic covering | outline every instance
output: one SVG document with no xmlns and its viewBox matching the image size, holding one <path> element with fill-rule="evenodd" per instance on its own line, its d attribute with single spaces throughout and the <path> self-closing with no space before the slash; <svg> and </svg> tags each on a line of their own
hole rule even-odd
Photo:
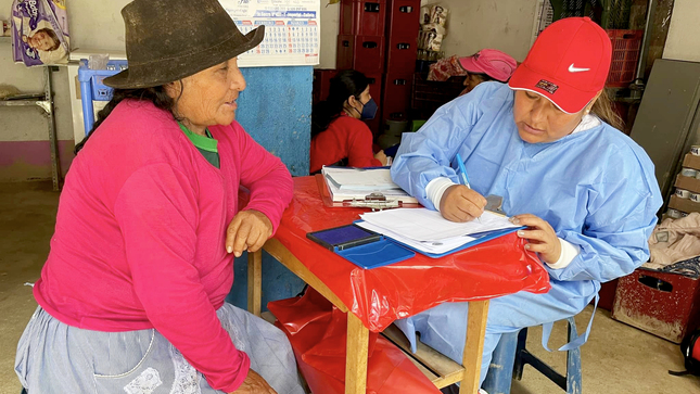
<svg viewBox="0 0 700 394">
<path fill-rule="evenodd" d="M 294 199 L 275 237 L 263 247 L 333 305 L 349 312 L 345 393 L 364 394 L 369 331 L 444 302 L 469 302 L 467 344 L 459 373 L 433 380 L 442 387 L 461 381 L 460 393 L 479 391 L 488 300 L 519 291 L 544 293 L 549 277 L 537 256 L 514 233 L 441 258 L 421 254 L 366 270 L 306 238 L 343 226 L 367 212 L 327 207 L 314 177 L 294 179 Z M 249 256 L 249 310 L 260 314 L 262 254 Z"/>
</svg>

